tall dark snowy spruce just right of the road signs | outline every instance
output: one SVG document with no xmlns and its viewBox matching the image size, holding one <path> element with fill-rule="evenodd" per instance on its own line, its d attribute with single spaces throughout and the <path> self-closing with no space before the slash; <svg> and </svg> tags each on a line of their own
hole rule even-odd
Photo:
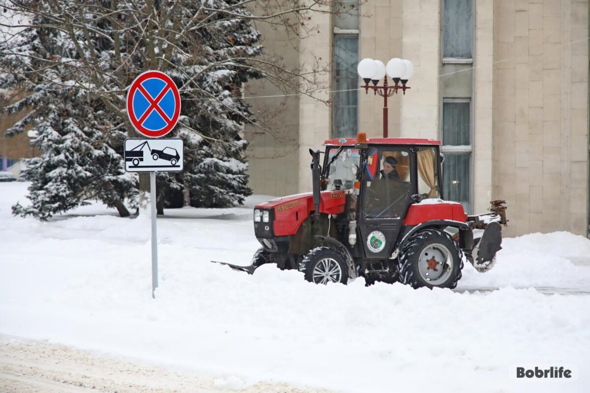
<svg viewBox="0 0 590 393">
<path fill-rule="evenodd" d="M 193 29 L 192 39 L 181 41 L 182 52 L 188 57 L 179 54 L 175 60 L 183 67 L 168 69 L 181 85 L 192 80 L 198 86 L 193 99 L 182 103 L 185 127 L 179 134 L 185 139 L 186 159 L 185 170 L 176 175 L 178 183 L 189 187 L 191 204 L 196 207 L 241 204 L 251 193 L 244 173 L 246 142 L 240 131 L 245 122 L 255 119 L 241 98 L 241 90 L 246 81 L 263 76 L 263 71 L 247 62 L 262 54 L 258 45 L 261 36 L 248 19 L 228 18 L 220 12 L 231 9 L 251 15 L 242 3 L 208 1 L 209 8 L 201 11 L 201 17 L 209 23 Z M 207 137 L 195 136 L 190 130 Z"/>
</svg>

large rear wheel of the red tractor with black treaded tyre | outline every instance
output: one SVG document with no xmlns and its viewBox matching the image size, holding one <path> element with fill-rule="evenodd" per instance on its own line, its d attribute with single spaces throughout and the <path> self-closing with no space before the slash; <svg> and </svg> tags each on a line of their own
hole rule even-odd
<svg viewBox="0 0 590 393">
<path fill-rule="evenodd" d="M 420 272 L 420 264 L 422 264 L 422 269 L 424 269 L 424 261 L 420 262 L 419 260 L 422 252 L 428 255 L 427 248 L 432 247 L 434 247 L 435 252 L 440 253 L 439 255 L 448 253 L 448 258 L 451 262 L 449 265 L 452 265 L 449 267 L 446 263 L 442 263 L 442 261 L 438 262 L 437 259 L 434 259 L 433 255 L 434 262 L 438 262 L 438 265 L 432 268 L 434 270 L 432 273 L 434 275 L 440 274 L 440 277 L 434 280 L 434 282 L 437 280 L 440 280 L 440 282 L 434 285 Z M 399 254 L 398 267 L 399 281 L 412 286 L 412 288 L 425 286 L 432 289 L 436 286 L 438 288 L 453 289 L 457 286 L 458 280 L 461 279 L 463 251 L 461 251 L 459 244 L 448 233 L 438 229 L 424 229 L 412 235 L 404 247 L 402 247 L 401 253 Z M 430 274 L 428 269 L 430 269 L 430 266 L 427 267 L 427 273 L 425 275 Z M 438 273 L 439 270 L 435 269 L 442 270 Z"/>
</svg>

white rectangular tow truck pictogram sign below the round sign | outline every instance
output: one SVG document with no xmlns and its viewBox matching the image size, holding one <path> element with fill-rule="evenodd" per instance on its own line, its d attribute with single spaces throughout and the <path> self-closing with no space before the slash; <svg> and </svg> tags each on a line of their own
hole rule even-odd
<svg viewBox="0 0 590 393">
<path fill-rule="evenodd" d="M 180 172 L 182 139 L 127 138 L 125 170 L 127 172 Z"/>
</svg>

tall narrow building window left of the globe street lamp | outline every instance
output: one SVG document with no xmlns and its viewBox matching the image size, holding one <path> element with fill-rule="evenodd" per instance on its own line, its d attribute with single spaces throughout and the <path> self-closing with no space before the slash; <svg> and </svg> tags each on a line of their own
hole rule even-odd
<svg viewBox="0 0 590 393">
<path fill-rule="evenodd" d="M 332 137 L 358 133 L 359 2 L 338 1 L 334 16 Z"/>
</svg>

